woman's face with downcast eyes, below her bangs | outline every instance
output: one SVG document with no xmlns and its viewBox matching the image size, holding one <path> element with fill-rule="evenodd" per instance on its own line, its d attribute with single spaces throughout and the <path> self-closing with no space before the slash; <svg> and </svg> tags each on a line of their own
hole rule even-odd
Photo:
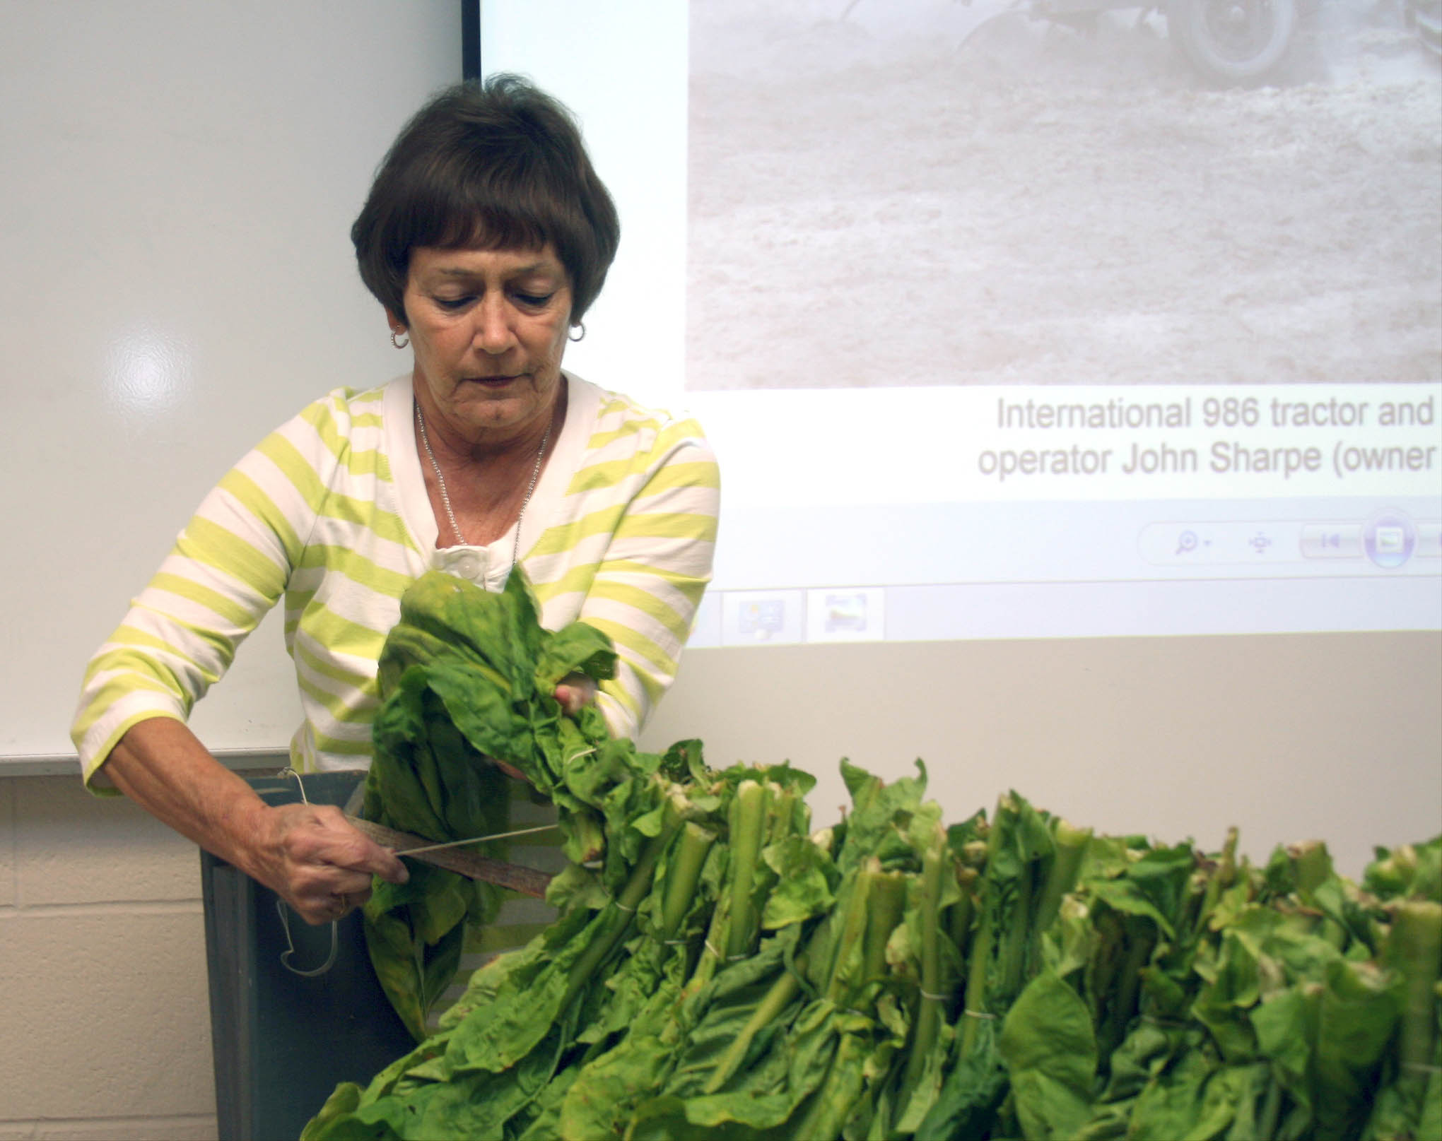
<svg viewBox="0 0 1442 1141">
<path fill-rule="evenodd" d="M 549 245 L 420 246 L 411 251 L 405 316 L 424 412 L 469 444 L 541 431 L 559 392 L 571 320 L 571 285 Z"/>
</svg>

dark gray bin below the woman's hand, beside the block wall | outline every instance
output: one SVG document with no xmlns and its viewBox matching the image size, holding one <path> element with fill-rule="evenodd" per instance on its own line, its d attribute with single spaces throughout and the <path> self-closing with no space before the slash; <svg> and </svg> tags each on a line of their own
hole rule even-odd
<svg viewBox="0 0 1442 1141">
<path fill-rule="evenodd" d="M 311 804 L 342 805 L 362 774 L 303 779 Z M 293 777 L 249 784 L 268 804 L 300 800 Z M 287 941 L 274 892 L 206 851 L 200 879 L 221 1141 L 293 1141 L 339 1082 L 365 1085 L 414 1040 L 376 983 L 359 912 L 337 925 L 335 965 L 303 978 L 281 964 Z M 323 964 L 330 925 L 287 918 L 291 965 Z"/>
</svg>

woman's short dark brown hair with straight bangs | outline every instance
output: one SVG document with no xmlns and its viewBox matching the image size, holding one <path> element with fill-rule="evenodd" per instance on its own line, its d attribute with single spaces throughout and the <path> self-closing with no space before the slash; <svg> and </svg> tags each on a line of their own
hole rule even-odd
<svg viewBox="0 0 1442 1141">
<path fill-rule="evenodd" d="M 528 79 L 492 75 L 441 91 L 405 124 L 350 241 L 360 279 L 402 321 L 414 248 L 551 243 L 575 324 L 606 281 L 620 219 L 571 112 Z"/>
</svg>

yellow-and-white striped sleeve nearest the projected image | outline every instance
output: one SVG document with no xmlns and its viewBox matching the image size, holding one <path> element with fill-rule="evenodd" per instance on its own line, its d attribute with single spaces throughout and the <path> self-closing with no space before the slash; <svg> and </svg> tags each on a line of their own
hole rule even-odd
<svg viewBox="0 0 1442 1141">
<path fill-rule="evenodd" d="M 634 736 L 676 679 L 711 581 L 720 510 L 715 455 L 694 421 L 665 425 L 642 458 L 580 618 L 610 635 L 617 676 L 598 703 L 616 736 Z"/>
</svg>

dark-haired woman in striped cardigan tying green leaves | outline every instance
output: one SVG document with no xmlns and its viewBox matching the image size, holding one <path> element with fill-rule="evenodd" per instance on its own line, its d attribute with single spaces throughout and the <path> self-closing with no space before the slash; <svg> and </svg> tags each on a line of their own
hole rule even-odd
<svg viewBox="0 0 1442 1141">
<path fill-rule="evenodd" d="M 709 578 L 714 457 L 692 422 L 561 370 L 619 223 L 570 115 L 526 82 L 451 88 L 402 130 L 352 228 L 410 376 L 311 403 L 205 498 L 87 671 L 87 782 L 150 813 L 310 922 L 405 879 L 339 810 L 265 805 L 185 726 L 281 595 L 304 723 L 297 769 L 363 768 L 399 596 L 441 568 L 499 589 L 523 566 L 542 622 L 616 641 L 596 700 L 634 733 L 675 677 Z"/>
</svg>

